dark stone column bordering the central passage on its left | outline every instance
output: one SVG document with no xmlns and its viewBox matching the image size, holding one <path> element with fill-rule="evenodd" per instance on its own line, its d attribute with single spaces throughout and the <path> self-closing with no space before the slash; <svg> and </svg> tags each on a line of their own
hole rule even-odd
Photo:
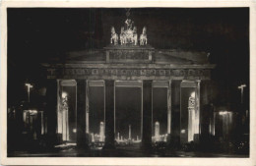
<svg viewBox="0 0 256 166">
<path fill-rule="evenodd" d="M 105 81 L 105 144 L 103 149 L 114 148 L 114 81 Z"/>
</svg>

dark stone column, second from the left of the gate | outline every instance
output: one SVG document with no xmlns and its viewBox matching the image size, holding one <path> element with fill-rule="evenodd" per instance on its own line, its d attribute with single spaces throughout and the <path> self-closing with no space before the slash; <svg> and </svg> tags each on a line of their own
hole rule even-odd
<svg viewBox="0 0 256 166">
<path fill-rule="evenodd" d="M 89 135 L 86 135 L 86 80 L 77 80 L 77 147 L 88 149 Z"/>
</svg>

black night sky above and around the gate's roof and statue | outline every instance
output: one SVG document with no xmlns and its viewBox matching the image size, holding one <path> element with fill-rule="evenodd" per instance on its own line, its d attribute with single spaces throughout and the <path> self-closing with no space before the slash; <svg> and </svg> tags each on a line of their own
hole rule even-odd
<svg viewBox="0 0 256 166">
<path fill-rule="evenodd" d="M 26 99 L 26 81 L 43 86 L 40 62 L 69 51 L 96 49 L 119 33 L 125 9 L 9 8 L 8 103 Z M 249 83 L 249 8 L 133 8 L 138 32 L 147 27 L 156 49 L 203 50 L 217 64 L 213 80 L 224 98 Z M 248 88 L 247 88 L 248 89 Z M 232 99 L 230 99 L 232 100 Z"/>
</svg>

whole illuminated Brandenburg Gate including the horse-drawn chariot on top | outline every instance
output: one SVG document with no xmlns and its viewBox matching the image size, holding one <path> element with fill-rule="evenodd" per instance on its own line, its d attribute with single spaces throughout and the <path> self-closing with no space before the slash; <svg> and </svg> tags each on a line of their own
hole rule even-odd
<svg viewBox="0 0 256 166">
<path fill-rule="evenodd" d="M 164 87 L 167 93 L 162 96 L 167 100 L 166 141 L 200 140 L 203 132 L 201 105 L 209 102 L 208 84 L 215 65 L 209 63 L 206 52 L 155 49 L 148 44 L 147 28 L 141 30 L 139 37 L 137 28 L 128 19 L 120 35 L 111 29 L 108 46 L 70 52 L 65 59 L 42 64 L 48 82 L 46 124 L 49 137 L 74 141 L 78 147 L 88 148 L 92 139 L 89 88 L 101 87 L 103 148 L 114 148 L 117 137 L 116 88 L 139 87 L 139 137 L 142 148 L 150 147 L 154 136 L 153 89 Z M 67 106 L 67 97 L 75 104 Z"/>
</svg>

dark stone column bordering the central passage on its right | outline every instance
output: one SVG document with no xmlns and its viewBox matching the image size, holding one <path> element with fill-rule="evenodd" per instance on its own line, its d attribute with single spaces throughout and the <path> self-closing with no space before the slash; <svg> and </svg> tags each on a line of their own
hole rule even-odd
<svg viewBox="0 0 256 166">
<path fill-rule="evenodd" d="M 152 81 L 143 81 L 142 149 L 152 147 Z"/>
</svg>

